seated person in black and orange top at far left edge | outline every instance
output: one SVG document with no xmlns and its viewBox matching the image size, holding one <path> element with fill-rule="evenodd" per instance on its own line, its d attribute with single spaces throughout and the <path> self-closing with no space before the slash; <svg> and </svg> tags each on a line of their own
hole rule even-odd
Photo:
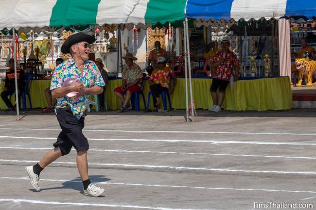
<svg viewBox="0 0 316 210">
<path fill-rule="evenodd" d="M 17 78 L 18 78 L 18 101 L 20 101 L 21 93 L 24 91 L 24 75 L 23 70 L 17 68 Z M 9 69 L 5 72 L 5 82 L 4 90 L 1 93 L 1 98 L 4 103 L 7 105 L 8 109 L 6 111 L 15 111 L 14 106 L 9 100 L 8 96 L 16 92 L 16 82 L 14 74 L 14 59 L 9 60 Z M 19 103 L 20 104 L 20 103 Z"/>
</svg>

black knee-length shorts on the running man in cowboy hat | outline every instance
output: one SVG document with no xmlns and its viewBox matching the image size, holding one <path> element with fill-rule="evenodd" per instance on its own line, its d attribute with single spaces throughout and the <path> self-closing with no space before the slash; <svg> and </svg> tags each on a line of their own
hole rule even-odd
<svg viewBox="0 0 316 210">
<path fill-rule="evenodd" d="M 66 112 L 64 109 L 55 109 L 57 120 L 62 131 L 53 145 L 59 147 L 62 155 L 70 153 L 72 146 L 79 151 L 89 149 L 88 139 L 82 133 L 85 126 L 85 117 L 80 119 Z"/>
</svg>

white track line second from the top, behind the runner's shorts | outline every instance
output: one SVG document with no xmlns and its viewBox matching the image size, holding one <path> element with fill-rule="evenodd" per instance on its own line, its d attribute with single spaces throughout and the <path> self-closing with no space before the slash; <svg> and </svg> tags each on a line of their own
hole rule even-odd
<svg viewBox="0 0 316 210">
<path fill-rule="evenodd" d="M 0 136 L 0 138 L 13 138 L 13 139 L 47 139 L 56 140 L 56 138 L 50 137 L 24 137 L 24 136 Z M 189 143 L 211 143 L 211 144 L 246 144 L 246 145 L 309 145 L 315 146 L 316 143 L 286 143 L 286 142 L 246 142 L 246 141 L 213 141 L 213 140 L 177 140 L 177 139 L 105 139 L 105 138 L 88 138 L 91 141 L 133 141 L 133 142 L 189 142 Z"/>
</svg>

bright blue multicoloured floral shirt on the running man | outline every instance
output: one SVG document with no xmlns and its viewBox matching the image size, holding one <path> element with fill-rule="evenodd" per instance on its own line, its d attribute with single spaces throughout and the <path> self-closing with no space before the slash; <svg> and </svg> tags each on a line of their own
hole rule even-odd
<svg viewBox="0 0 316 210">
<path fill-rule="evenodd" d="M 81 70 L 77 67 L 74 60 L 70 58 L 58 65 L 58 67 L 54 70 L 50 89 L 54 90 L 62 87 L 64 81 L 71 77 L 78 78 L 81 82 L 83 82 L 84 87 L 105 85 L 101 73 L 93 61 L 88 60 L 85 62 L 83 75 L 81 75 Z M 57 98 L 56 107 L 64 108 L 67 105 L 71 108 L 72 114 L 80 119 L 86 109 L 89 109 L 89 102 L 90 95 L 83 95 L 81 97 L 64 96 Z"/>
</svg>

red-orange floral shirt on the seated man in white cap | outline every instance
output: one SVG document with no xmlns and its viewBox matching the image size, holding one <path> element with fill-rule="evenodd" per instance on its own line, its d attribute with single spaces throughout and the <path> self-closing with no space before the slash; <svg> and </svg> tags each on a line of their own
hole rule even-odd
<svg viewBox="0 0 316 210">
<path fill-rule="evenodd" d="M 169 88 L 170 76 L 175 76 L 175 73 L 170 67 L 166 66 L 164 69 L 154 69 L 151 73 L 150 80 L 155 84 L 160 84 L 161 87 Z"/>
</svg>

